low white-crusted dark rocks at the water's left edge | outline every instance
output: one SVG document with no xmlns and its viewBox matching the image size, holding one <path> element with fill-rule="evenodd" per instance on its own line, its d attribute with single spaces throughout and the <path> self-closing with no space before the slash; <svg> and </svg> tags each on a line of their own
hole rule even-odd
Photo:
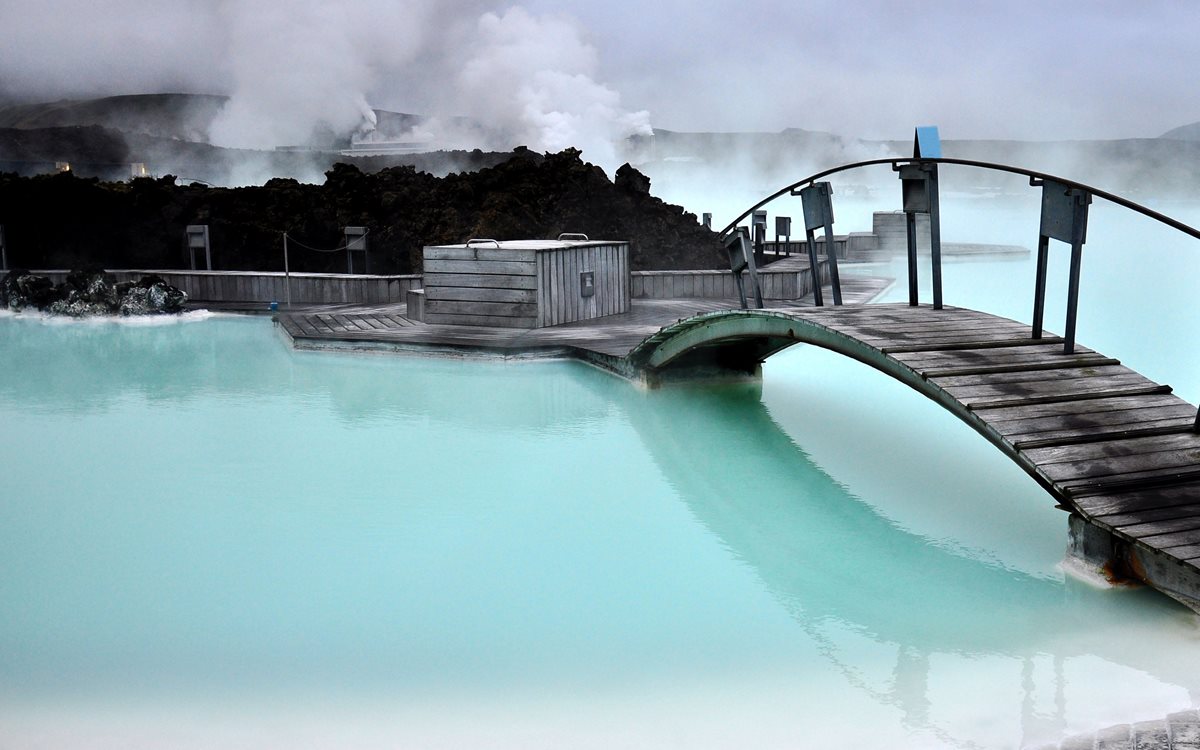
<svg viewBox="0 0 1200 750">
<path fill-rule="evenodd" d="M 187 294 L 160 276 L 120 282 L 112 274 L 72 271 L 55 286 L 44 276 L 10 271 L 0 278 L 0 307 L 19 312 L 35 308 L 55 316 L 152 316 L 182 312 Z"/>
</svg>

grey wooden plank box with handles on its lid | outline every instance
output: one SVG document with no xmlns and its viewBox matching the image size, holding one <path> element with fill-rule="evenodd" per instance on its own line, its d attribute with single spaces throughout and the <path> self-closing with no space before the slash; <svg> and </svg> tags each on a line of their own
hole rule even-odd
<svg viewBox="0 0 1200 750">
<path fill-rule="evenodd" d="M 629 242 L 577 236 L 426 246 L 424 322 L 545 328 L 628 312 Z"/>
</svg>

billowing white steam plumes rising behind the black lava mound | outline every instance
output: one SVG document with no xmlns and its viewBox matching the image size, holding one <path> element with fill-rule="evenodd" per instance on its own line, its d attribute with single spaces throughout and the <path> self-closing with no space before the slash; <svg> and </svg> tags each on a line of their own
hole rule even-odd
<svg viewBox="0 0 1200 750">
<path fill-rule="evenodd" d="M 595 79 L 599 53 L 571 19 L 518 6 L 476 14 L 478 5 L 448 12 L 430 1 L 400 8 L 308 0 L 286 10 L 226 2 L 234 90 L 212 143 L 328 145 L 354 132 L 370 139 L 368 101 L 404 101 L 414 84 L 404 68 L 418 60 L 440 88 L 431 114 L 443 116 L 409 134 L 427 148 L 576 146 L 613 168 L 616 143 L 652 132 L 648 113 L 625 112 L 620 95 Z"/>
</svg>

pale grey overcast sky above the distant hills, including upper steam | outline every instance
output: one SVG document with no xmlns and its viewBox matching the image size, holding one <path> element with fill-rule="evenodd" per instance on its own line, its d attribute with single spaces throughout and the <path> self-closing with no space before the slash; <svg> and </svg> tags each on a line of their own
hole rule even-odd
<svg viewBox="0 0 1200 750">
<path fill-rule="evenodd" d="M 0 0 L 0 94 L 484 118 L 516 102 L 498 116 L 568 138 L 577 119 L 617 133 L 643 115 L 682 131 L 1154 137 L 1200 120 L 1198 32 L 1193 0 Z"/>
</svg>

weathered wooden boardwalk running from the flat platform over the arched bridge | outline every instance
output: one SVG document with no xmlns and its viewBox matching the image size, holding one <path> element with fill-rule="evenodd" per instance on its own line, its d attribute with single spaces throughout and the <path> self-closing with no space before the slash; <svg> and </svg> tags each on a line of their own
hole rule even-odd
<svg viewBox="0 0 1200 750">
<path fill-rule="evenodd" d="M 846 292 L 872 294 L 865 283 Z M 955 413 L 1060 506 L 1150 552 L 1132 563 L 1135 568 L 1165 560 L 1178 568 L 1172 576 L 1200 582 L 1196 409 L 1169 385 L 1086 347 L 1063 354 L 1054 336 L 1033 340 L 1028 325 L 972 310 L 733 306 L 727 300 L 644 300 L 626 314 L 535 330 L 422 325 L 395 306 L 310 311 L 278 320 L 298 347 L 574 355 L 626 376 L 665 371 L 688 361 L 688 353 L 754 337 L 770 342 L 760 350 L 763 358 L 797 342 L 816 343 L 868 362 Z M 1139 577 L 1194 608 L 1200 605 L 1200 588 L 1171 590 L 1152 575 Z"/>
</svg>

